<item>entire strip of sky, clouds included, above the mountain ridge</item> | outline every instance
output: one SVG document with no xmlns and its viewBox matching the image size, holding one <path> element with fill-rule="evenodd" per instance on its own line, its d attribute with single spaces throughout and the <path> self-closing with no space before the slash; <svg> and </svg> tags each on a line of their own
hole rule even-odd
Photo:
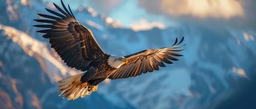
<svg viewBox="0 0 256 109">
<path fill-rule="evenodd" d="M 60 4 L 60 1 L 54 2 Z M 193 23 L 256 30 L 254 0 L 64 0 L 64 3 L 73 10 L 80 6 L 92 7 L 98 14 L 118 20 L 127 28 Z"/>
</svg>

